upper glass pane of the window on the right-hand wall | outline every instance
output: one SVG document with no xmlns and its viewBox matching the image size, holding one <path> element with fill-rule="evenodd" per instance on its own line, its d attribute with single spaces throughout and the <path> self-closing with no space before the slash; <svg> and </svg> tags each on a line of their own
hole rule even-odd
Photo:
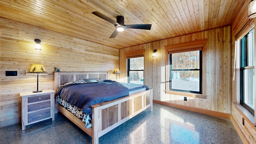
<svg viewBox="0 0 256 144">
<path fill-rule="evenodd" d="M 254 66 L 254 30 L 248 34 L 248 66 Z"/>
</svg>

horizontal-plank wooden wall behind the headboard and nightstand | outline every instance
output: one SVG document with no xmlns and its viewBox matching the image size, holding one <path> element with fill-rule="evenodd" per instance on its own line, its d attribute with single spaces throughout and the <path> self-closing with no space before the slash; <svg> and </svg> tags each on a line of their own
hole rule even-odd
<svg viewBox="0 0 256 144">
<path fill-rule="evenodd" d="M 34 50 L 34 39 L 42 51 Z M 54 88 L 54 67 L 60 71 L 109 71 L 119 67 L 119 49 L 82 38 L 0 18 L 0 127 L 21 122 L 20 92 L 36 90 L 36 75 L 26 75 L 32 64 L 41 63 L 48 75 L 39 76 L 39 89 Z M 18 76 L 5 76 L 5 71 Z M 119 75 L 118 75 L 119 76 Z"/>
</svg>

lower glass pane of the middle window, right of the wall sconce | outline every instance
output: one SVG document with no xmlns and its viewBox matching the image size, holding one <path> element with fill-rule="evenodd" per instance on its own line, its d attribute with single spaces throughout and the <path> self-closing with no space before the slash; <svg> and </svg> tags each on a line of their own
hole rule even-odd
<svg viewBox="0 0 256 144">
<path fill-rule="evenodd" d="M 199 70 L 172 71 L 171 89 L 200 91 Z"/>
</svg>

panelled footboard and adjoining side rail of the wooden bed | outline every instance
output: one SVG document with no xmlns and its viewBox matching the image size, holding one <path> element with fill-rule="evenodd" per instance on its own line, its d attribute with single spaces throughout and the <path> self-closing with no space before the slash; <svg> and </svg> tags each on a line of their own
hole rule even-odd
<svg viewBox="0 0 256 144">
<path fill-rule="evenodd" d="M 123 98 L 92 105 L 92 127 L 85 128 L 85 123 L 71 112 L 56 104 L 56 108 L 69 120 L 92 137 L 92 144 L 98 144 L 100 136 L 113 130 L 120 124 L 136 116 L 146 108 L 152 107 L 152 89 L 132 94 Z"/>
</svg>

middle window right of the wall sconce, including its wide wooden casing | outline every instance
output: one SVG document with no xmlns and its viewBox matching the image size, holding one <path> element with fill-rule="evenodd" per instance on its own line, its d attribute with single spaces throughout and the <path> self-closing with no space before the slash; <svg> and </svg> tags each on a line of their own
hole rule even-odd
<svg viewBox="0 0 256 144">
<path fill-rule="evenodd" d="M 166 94 L 206 98 L 207 40 L 165 46 Z"/>
</svg>

